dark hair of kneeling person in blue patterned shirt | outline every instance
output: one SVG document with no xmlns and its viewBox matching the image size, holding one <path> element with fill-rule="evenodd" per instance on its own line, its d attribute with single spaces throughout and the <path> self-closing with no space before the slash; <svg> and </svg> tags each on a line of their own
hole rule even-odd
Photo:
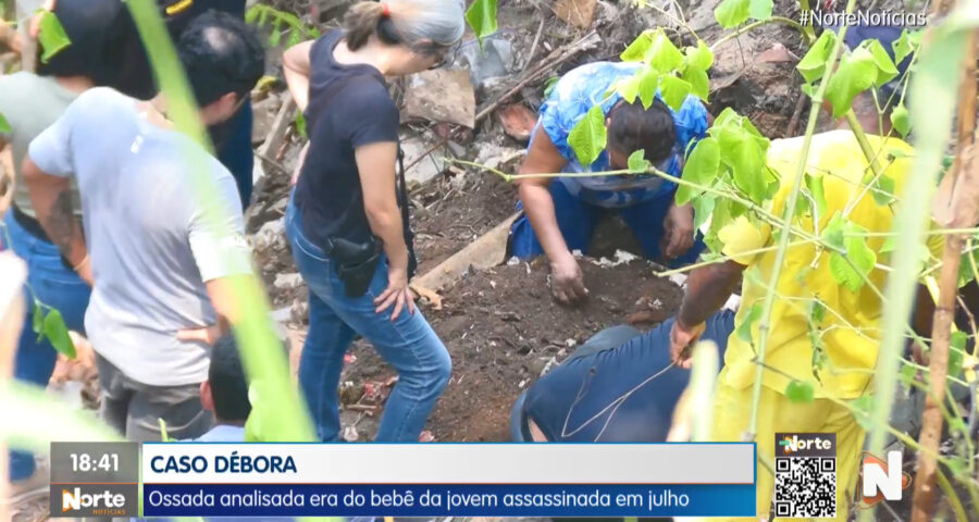
<svg viewBox="0 0 979 522">
<path fill-rule="evenodd" d="M 649 109 L 639 99 L 623 100 L 609 113 L 608 145 L 625 154 L 643 150 L 646 160 L 657 163 L 669 158 L 677 142 L 673 125 L 673 114 L 658 98 Z"/>
</svg>

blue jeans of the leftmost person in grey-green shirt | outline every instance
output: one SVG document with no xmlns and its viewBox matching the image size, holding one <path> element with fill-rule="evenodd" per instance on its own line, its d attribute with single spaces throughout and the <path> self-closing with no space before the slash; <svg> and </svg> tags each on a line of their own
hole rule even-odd
<svg viewBox="0 0 979 522">
<path fill-rule="evenodd" d="M 34 298 L 57 309 L 64 316 L 69 330 L 85 331 L 85 309 L 91 288 L 72 269 L 61 261 L 61 253 L 53 244 L 39 239 L 25 231 L 8 211 L 3 216 L 8 235 L 0 234 L 3 248 L 13 250 L 27 263 L 27 284 L 24 299 L 27 315 L 24 330 L 17 343 L 14 359 L 14 378 L 45 387 L 54 371 L 58 353 L 47 339 L 37 341 L 37 334 L 30 327 L 34 313 Z M 30 289 L 34 290 L 32 296 Z M 11 451 L 10 478 L 17 481 L 34 473 L 34 456 L 26 451 Z"/>
</svg>

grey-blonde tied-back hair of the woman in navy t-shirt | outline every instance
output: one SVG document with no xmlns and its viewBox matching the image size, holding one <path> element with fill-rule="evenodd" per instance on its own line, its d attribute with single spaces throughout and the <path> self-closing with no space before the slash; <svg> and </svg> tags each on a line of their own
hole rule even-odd
<svg viewBox="0 0 979 522">
<path fill-rule="evenodd" d="M 356 51 L 372 35 L 387 45 L 426 41 L 449 47 L 462 38 L 463 11 L 462 0 L 361 1 L 344 16 L 347 47 Z"/>
</svg>

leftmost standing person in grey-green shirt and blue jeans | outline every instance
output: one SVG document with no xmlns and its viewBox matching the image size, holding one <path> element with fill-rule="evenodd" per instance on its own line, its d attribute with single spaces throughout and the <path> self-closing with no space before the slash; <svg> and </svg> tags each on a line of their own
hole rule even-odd
<svg viewBox="0 0 979 522">
<path fill-rule="evenodd" d="M 0 114 L 10 129 L 0 133 L 0 148 L 9 144 L 13 158 L 13 204 L 3 215 L 8 234 L 0 236 L 0 247 L 13 250 L 28 265 L 25 297 L 35 299 L 61 312 L 69 328 L 84 332 L 85 308 L 91 289 L 72 265 L 64 261 L 36 219 L 30 195 L 24 185 L 21 164 L 27 156 L 30 140 L 64 112 L 79 94 L 103 83 L 106 71 L 95 57 L 102 52 L 102 38 L 91 30 L 92 21 L 106 16 L 119 0 L 99 0 L 89 4 L 70 2 L 54 11 L 72 45 L 47 62 L 37 64 L 37 74 L 17 72 L 0 76 Z M 78 192 L 74 184 L 67 192 L 74 202 L 76 216 L 80 214 Z M 33 306 L 27 307 L 24 324 L 32 324 Z M 48 339 L 38 339 L 30 326 L 24 327 L 17 343 L 14 378 L 40 387 L 48 385 L 58 353 Z M 10 458 L 10 478 L 14 496 L 47 490 L 47 472 L 35 473 L 34 456 L 13 451 Z"/>
</svg>

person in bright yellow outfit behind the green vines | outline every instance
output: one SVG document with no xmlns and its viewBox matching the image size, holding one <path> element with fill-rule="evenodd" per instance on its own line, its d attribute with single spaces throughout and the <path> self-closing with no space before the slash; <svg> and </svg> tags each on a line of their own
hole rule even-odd
<svg viewBox="0 0 979 522">
<path fill-rule="evenodd" d="M 772 200 L 771 213 L 781 216 L 798 171 L 804 137 L 777 139 L 768 150 L 768 166 L 781 177 L 781 188 Z M 894 182 L 894 194 L 902 194 L 912 164 L 913 149 L 901 139 L 868 136 L 879 153 L 883 175 Z M 838 129 L 813 137 L 806 164 L 809 175 L 821 177 L 826 209 L 818 220 L 795 220 L 795 226 L 819 236 L 840 213 L 870 233 L 889 233 L 894 213 L 879 204 L 863 181 L 868 162 L 850 129 Z M 847 213 L 848 212 L 848 213 Z M 818 222 L 818 228 L 814 226 Z M 704 320 L 730 297 L 739 282 L 742 304 L 735 318 L 735 332 L 728 340 L 724 366 L 717 382 L 712 438 L 718 442 L 744 440 L 752 414 L 752 385 L 756 377 L 756 345 L 760 337 L 758 321 L 749 319 L 753 307 L 760 306 L 774 270 L 776 251 L 743 253 L 773 246 L 778 239 L 768 225 L 755 226 L 745 216 L 734 220 L 719 233 L 729 260 L 693 271 L 678 321 L 670 334 L 673 360 L 689 365 L 686 348 L 703 332 Z M 867 274 L 878 289 L 883 288 L 889 264 L 883 252 L 885 237 L 867 237 L 876 253 L 877 268 Z M 846 520 L 850 499 L 854 498 L 857 464 L 864 444 L 864 431 L 846 401 L 867 393 L 877 363 L 882 302 L 869 284 L 857 291 L 840 285 L 832 275 L 830 251 L 813 243 L 796 241 L 781 266 L 778 293 L 771 313 L 761 398 L 758 403 L 757 433 L 758 489 L 757 513 L 763 520 L 772 504 L 774 477 L 761 465 L 774 461 L 776 433 L 832 433 L 837 439 L 837 520 Z M 825 364 L 814 372 L 814 348 L 809 318 L 814 298 L 826 307 L 821 334 Z M 751 341 L 739 335 L 741 325 L 751 323 Z M 817 353 L 818 355 L 818 353 Z M 818 378 L 814 373 L 818 373 Z M 809 402 L 792 402 L 786 396 L 790 383 L 806 383 L 815 390 Z"/>
</svg>

